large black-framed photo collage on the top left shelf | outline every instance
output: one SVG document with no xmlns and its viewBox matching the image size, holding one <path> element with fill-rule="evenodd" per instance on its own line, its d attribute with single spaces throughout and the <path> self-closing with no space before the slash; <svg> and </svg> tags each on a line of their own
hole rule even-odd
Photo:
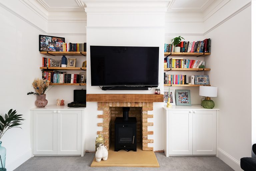
<svg viewBox="0 0 256 171">
<path fill-rule="evenodd" d="M 39 35 L 39 51 L 62 52 L 64 37 Z"/>
</svg>

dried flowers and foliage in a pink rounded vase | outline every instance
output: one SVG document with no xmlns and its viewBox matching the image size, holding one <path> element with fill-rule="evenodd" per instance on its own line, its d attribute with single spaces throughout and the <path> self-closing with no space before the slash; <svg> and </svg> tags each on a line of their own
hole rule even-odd
<svg viewBox="0 0 256 171">
<path fill-rule="evenodd" d="M 36 100 L 36 106 L 37 107 L 45 107 L 48 103 L 48 100 L 46 100 L 46 90 L 48 89 L 48 86 L 50 84 L 49 80 L 45 79 L 35 79 L 32 83 L 34 89 L 36 92 L 28 92 L 27 95 L 29 94 L 35 94 L 37 95 L 37 100 Z"/>
</svg>

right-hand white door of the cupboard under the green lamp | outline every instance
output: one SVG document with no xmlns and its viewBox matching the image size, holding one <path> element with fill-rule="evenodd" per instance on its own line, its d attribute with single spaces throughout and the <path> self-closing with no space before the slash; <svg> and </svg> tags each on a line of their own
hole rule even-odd
<svg viewBox="0 0 256 171">
<path fill-rule="evenodd" d="M 193 154 L 216 154 L 216 111 L 193 110 Z"/>
</svg>

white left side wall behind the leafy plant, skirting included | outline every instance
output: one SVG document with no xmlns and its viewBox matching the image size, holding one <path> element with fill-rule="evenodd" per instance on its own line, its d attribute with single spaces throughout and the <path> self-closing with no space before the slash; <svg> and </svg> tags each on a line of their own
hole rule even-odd
<svg viewBox="0 0 256 171">
<path fill-rule="evenodd" d="M 26 119 L 22 129 L 12 128 L 1 138 L 2 146 L 7 149 L 6 168 L 10 171 L 32 154 L 29 109 L 35 106 L 36 96 L 28 96 L 27 92 L 33 91 L 32 82 L 40 76 L 42 59 L 38 53 L 38 35 L 44 34 L 42 29 L 47 26 L 39 16 L 25 19 L 18 14 L 24 11 L 27 15 L 33 13 L 18 0 L 0 3 L 0 114 L 3 116 L 10 109 L 16 109 Z"/>
</svg>

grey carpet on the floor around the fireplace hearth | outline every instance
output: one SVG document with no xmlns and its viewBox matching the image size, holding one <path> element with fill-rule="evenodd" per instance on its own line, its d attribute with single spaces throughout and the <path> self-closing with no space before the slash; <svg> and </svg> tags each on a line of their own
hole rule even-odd
<svg viewBox="0 0 256 171">
<path fill-rule="evenodd" d="M 165 157 L 155 153 L 159 168 L 138 167 L 90 167 L 95 153 L 79 156 L 35 156 L 14 171 L 233 171 L 231 167 L 214 156 Z"/>
</svg>

